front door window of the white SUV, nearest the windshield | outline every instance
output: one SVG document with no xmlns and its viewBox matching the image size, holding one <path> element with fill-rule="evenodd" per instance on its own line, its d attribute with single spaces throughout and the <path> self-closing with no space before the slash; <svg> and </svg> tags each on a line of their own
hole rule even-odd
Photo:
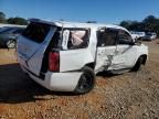
<svg viewBox="0 0 159 119">
<path fill-rule="evenodd" d="M 118 43 L 119 44 L 130 44 L 132 43 L 131 36 L 124 30 L 118 31 Z"/>
</svg>

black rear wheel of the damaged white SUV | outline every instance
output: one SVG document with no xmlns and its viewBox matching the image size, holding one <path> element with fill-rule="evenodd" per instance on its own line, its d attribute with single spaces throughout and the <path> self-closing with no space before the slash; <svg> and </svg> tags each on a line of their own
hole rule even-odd
<svg viewBox="0 0 159 119">
<path fill-rule="evenodd" d="M 83 68 L 83 74 L 78 80 L 75 88 L 75 94 L 86 94 L 89 93 L 95 86 L 95 73 L 91 67 L 85 66 Z"/>
</svg>

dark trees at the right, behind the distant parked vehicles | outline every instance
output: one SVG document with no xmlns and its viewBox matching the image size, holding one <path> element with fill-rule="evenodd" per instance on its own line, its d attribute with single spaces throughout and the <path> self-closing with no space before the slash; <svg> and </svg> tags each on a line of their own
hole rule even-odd
<svg viewBox="0 0 159 119">
<path fill-rule="evenodd" d="M 129 31 L 156 32 L 159 36 L 159 19 L 153 15 L 146 17 L 141 22 L 130 20 L 121 21 L 119 25 Z"/>
</svg>

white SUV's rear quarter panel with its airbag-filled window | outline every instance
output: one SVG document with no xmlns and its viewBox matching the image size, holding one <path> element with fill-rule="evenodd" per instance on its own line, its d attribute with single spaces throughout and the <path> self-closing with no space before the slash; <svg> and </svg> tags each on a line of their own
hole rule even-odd
<svg viewBox="0 0 159 119">
<path fill-rule="evenodd" d="M 85 64 L 94 62 L 89 48 L 91 39 L 93 37 L 91 36 L 89 29 L 64 29 L 62 43 L 63 50 L 60 52 L 61 72 L 78 71 Z"/>
</svg>

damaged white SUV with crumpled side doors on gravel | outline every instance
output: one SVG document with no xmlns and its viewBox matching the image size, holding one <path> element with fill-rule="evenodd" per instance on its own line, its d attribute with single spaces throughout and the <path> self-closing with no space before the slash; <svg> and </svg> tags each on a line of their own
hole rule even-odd
<svg viewBox="0 0 159 119">
<path fill-rule="evenodd" d="M 88 93 L 95 74 L 138 71 L 148 47 L 117 25 L 50 22 L 31 19 L 17 45 L 26 74 L 47 89 Z"/>
</svg>

